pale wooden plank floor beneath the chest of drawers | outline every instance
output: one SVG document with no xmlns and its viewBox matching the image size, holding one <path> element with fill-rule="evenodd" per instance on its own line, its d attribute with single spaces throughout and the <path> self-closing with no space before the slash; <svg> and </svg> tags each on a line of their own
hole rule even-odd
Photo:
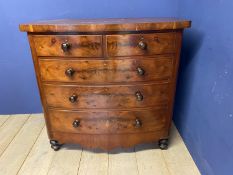
<svg viewBox="0 0 233 175">
<path fill-rule="evenodd" d="M 42 114 L 0 116 L 0 175 L 198 175 L 176 128 L 166 151 L 157 144 L 111 152 L 50 148 Z"/>
</svg>

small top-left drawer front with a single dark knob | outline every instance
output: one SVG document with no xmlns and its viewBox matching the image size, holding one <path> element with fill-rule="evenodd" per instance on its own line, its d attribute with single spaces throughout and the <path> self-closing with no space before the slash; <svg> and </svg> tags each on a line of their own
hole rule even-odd
<svg viewBox="0 0 233 175">
<path fill-rule="evenodd" d="M 38 56 L 102 56 L 100 35 L 36 35 L 33 40 Z"/>
</svg>

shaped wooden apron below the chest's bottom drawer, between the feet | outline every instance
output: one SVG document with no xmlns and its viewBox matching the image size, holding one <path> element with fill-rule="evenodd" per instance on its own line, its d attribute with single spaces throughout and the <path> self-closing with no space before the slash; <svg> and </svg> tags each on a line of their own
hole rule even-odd
<svg viewBox="0 0 233 175">
<path fill-rule="evenodd" d="M 167 138 L 165 130 L 137 134 L 77 134 L 65 132 L 52 132 L 51 139 L 60 143 L 78 143 L 85 148 L 100 148 L 112 150 L 114 148 L 129 148 L 141 143 L 152 143 L 161 138 Z"/>
</svg>

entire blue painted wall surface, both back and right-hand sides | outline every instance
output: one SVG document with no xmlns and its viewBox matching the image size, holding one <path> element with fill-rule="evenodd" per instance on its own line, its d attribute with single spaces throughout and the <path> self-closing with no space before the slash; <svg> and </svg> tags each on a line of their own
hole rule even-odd
<svg viewBox="0 0 233 175">
<path fill-rule="evenodd" d="M 168 17 L 193 21 L 185 32 L 174 119 L 203 175 L 233 165 L 231 0 L 0 1 L 0 114 L 41 112 L 22 22 L 57 18 Z"/>
</svg>

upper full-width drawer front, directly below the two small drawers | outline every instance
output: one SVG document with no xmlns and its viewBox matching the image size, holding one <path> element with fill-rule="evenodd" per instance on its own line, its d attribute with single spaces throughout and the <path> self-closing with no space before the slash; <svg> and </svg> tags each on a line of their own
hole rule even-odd
<svg viewBox="0 0 233 175">
<path fill-rule="evenodd" d="M 41 59 L 43 81 L 101 83 L 168 80 L 173 59 L 55 60 Z"/>
</svg>

